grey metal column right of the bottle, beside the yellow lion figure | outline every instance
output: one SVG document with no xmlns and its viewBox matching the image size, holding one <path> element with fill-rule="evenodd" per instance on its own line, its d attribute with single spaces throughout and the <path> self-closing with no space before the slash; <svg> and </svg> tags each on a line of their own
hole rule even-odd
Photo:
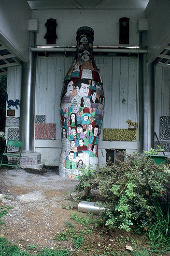
<svg viewBox="0 0 170 256">
<path fill-rule="evenodd" d="M 139 145 L 138 151 L 154 148 L 155 121 L 155 64 L 146 62 L 146 54 L 139 57 Z"/>
</svg>

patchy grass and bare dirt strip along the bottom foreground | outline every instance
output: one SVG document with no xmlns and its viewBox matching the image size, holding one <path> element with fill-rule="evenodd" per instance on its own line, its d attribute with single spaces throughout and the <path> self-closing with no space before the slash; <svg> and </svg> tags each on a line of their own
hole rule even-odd
<svg viewBox="0 0 170 256">
<path fill-rule="evenodd" d="M 0 237 L 0 256 L 156 256 L 164 255 L 163 250 L 149 244 L 147 237 L 114 230 L 113 233 L 98 225 L 98 217 L 92 214 L 72 212 L 71 219 L 65 221 L 64 231 L 55 235 L 54 240 L 66 241 L 68 248 L 44 248 L 38 244 L 28 244 L 22 249 L 9 240 Z M 133 251 L 126 250 L 130 245 Z M 36 250 L 37 252 L 35 252 Z"/>
</svg>

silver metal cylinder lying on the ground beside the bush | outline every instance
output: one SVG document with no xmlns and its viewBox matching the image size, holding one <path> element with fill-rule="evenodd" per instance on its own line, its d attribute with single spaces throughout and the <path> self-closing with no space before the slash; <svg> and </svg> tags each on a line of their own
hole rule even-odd
<svg viewBox="0 0 170 256">
<path fill-rule="evenodd" d="M 96 214 L 96 215 L 99 215 L 100 214 L 100 211 L 101 210 L 104 210 L 105 208 L 104 207 L 99 207 L 98 205 L 96 205 L 95 203 L 93 202 L 88 202 L 88 201 L 81 201 L 79 204 L 78 204 L 78 210 L 79 211 L 82 211 L 82 212 L 85 212 L 85 213 L 93 213 L 93 214 Z"/>
</svg>

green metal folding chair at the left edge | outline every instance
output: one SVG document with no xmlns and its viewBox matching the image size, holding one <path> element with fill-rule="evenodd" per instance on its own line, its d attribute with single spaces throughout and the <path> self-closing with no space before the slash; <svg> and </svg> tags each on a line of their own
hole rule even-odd
<svg viewBox="0 0 170 256">
<path fill-rule="evenodd" d="M 19 147 L 20 148 L 19 154 L 16 154 L 16 152 L 14 152 L 15 154 L 13 152 L 7 152 L 8 146 Z M 20 160 L 21 160 L 22 146 L 23 146 L 23 143 L 21 141 L 9 140 L 5 146 L 4 153 L 2 154 L 2 160 L 0 162 L 0 167 L 2 165 L 10 166 L 10 167 L 13 166 L 13 167 L 16 167 L 16 169 L 15 169 L 15 171 L 16 171 L 17 168 L 19 168 L 19 164 L 20 164 Z M 9 162 L 8 157 L 18 158 L 18 160 L 17 160 L 17 162 Z"/>
</svg>

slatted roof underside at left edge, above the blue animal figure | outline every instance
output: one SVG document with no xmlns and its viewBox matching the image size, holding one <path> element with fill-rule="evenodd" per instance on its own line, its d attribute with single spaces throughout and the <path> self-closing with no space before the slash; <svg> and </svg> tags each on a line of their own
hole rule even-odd
<svg viewBox="0 0 170 256">
<path fill-rule="evenodd" d="M 18 57 L 0 40 L 0 75 L 7 74 L 10 66 L 21 65 Z"/>
</svg>

